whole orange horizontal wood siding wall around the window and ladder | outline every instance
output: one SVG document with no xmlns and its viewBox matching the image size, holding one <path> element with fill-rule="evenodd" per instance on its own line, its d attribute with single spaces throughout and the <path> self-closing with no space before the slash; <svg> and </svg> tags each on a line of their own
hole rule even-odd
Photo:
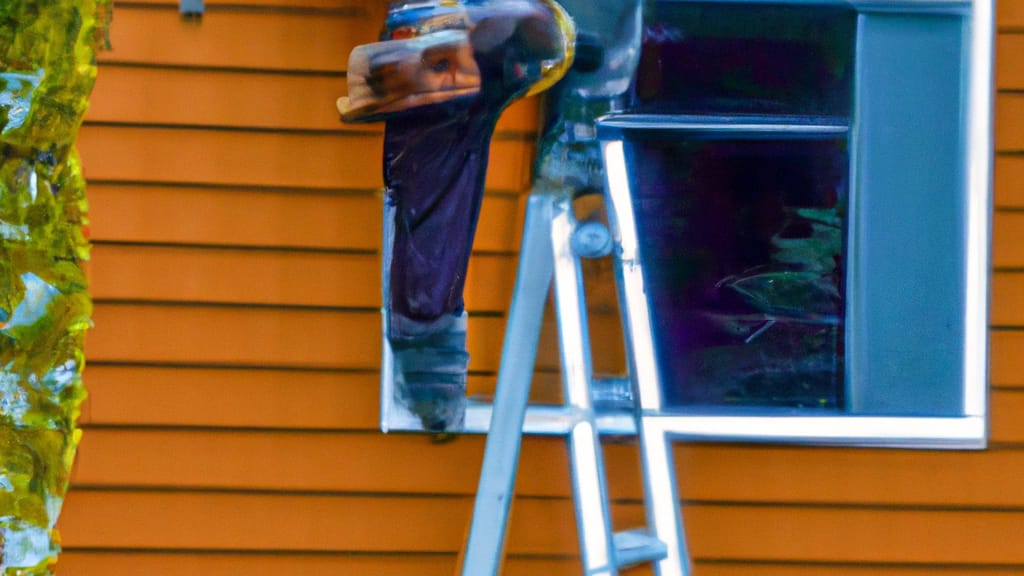
<svg viewBox="0 0 1024 576">
<path fill-rule="evenodd" d="M 119 2 L 81 132 L 95 329 L 58 573 L 451 574 L 483 439 L 377 431 L 381 131 L 333 109 L 384 2 L 207 6 L 185 23 L 172 0 Z M 998 23 L 991 447 L 681 445 L 697 576 L 1024 572 L 1024 0 Z M 474 392 L 498 365 L 536 108 L 494 142 Z M 616 337 L 596 343 L 622 366 Z M 637 525 L 637 451 L 606 454 L 615 523 Z M 518 494 L 506 575 L 578 574 L 560 440 L 525 442 Z"/>
</svg>

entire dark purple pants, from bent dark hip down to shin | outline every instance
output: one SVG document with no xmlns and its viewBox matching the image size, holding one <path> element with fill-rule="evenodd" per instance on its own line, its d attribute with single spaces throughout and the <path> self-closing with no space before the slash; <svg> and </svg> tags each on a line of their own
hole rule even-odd
<svg viewBox="0 0 1024 576">
<path fill-rule="evenodd" d="M 471 36 L 480 91 L 396 115 L 384 134 L 387 202 L 395 208 L 388 337 L 415 339 L 463 312 L 463 287 L 483 198 L 487 154 L 502 111 L 557 56 L 558 30 L 508 34 L 501 15 Z M 502 31 L 495 42 L 493 30 Z"/>
</svg>

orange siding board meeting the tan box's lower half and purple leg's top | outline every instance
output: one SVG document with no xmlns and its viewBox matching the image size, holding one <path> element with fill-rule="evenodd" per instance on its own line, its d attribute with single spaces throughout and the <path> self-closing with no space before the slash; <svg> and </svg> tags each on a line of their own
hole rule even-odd
<svg viewBox="0 0 1024 576">
<path fill-rule="evenodd" d="M 335 100 L 346 90 L 345 79 L 334 75 L 167 70 L 111 64 L 100 67 L 86 121 L 381 131 L 383 123 L 343 124 L 339 120 Z M 537 109 L 538 98 L 517 100 L 502 115 L 497 130 L 532 131 Z"/>
</svg>

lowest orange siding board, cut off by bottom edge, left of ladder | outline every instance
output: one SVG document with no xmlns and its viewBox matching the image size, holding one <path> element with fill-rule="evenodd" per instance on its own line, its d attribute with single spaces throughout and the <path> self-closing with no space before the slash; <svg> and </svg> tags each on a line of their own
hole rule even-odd
<svg viewBox="0 0 1024 576">
<path fill-rule="evenodd" d="M 71 549 L 60 554 L 58 574 L 69 576 L 452 576 L 455 553 L 430 554 L 303 554 L 238 552 L 138 552 Z M 572 559 L 510 558 L 502 576 L 580 574 Z M 629 576 L 639 576 L 630 572 Z"/>
</svg>

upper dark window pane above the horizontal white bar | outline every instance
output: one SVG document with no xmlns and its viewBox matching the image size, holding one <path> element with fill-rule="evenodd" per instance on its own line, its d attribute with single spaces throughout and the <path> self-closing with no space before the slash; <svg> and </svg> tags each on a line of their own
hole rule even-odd
<svg viewBox="0 0 1024 576">
<path fill-rule="evenodd" d="M 645 18 L 638 112 L 850 114 L 854 10 L 663 0 Z"/>
</svg>

